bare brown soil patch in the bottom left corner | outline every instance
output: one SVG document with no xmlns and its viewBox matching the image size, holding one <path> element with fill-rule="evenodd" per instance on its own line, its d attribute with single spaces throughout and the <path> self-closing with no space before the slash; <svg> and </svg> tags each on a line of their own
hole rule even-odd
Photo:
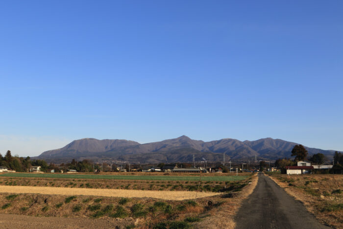
<svg viewBox="0 0 343 229">
<path fill-rule="evenodd" d="M 126 224 L 130 222 L 126 220 Z M 133 224 L 134 221 L 130 219 Z M 124 229 L 123 220 L 91 220 L 87 218 L 62 218 L 62 217 L 35 217 L 27 215 L 0 214 L 0 228 L 40 228 L 40 229 L 99 229 L 118 228 Z"/>
</svg>

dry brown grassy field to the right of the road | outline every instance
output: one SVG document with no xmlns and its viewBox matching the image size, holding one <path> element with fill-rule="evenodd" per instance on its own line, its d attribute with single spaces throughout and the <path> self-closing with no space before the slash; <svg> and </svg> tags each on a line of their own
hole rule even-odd
<svg viewBox="0 0 343 229">
<path fill-rule="evenodd" d="M 270 175 L 323 224 L 343 228 L 342 175 Z"/>
</svg>

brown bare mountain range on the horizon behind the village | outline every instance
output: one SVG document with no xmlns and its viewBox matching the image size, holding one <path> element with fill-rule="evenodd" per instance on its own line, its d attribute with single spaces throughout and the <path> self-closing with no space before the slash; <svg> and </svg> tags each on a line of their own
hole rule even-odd
<svg viewBox="0 0 343 229">
<path fill-rule="evenodd" d="M 70 162 L 72 159 L 93 161 L 117 161 L 130 163 L 171 163 L 196 161 L 276 160 L 291 157 L 297 143 L 281 139 L 263 138 L 256 141 L 239 141 L 224 138 L 210 142 L 193 140 L 185 135 L 160 142 L 140 144 L 135 141 L 83 138 L 57 150 L 41 153 L 37 159 L 48 162 Z M 332 158 L 334 151 L 305 147 L 309 155 L 323 153 Z"/>
</svg>

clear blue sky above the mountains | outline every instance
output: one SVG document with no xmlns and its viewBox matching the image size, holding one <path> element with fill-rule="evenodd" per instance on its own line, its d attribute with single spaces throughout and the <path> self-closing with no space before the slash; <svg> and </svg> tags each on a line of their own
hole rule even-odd
<svg viewBox="0 0 343 229">
<path fill-rule="evenodd" d="M 343 151 L 343 1 L 0 1 L 0 153 L 183 134 Z"/>
</svg>

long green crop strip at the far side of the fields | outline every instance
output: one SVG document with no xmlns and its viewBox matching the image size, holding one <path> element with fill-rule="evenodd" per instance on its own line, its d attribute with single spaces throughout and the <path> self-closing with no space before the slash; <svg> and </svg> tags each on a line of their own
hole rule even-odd
<svg viewBox="0 0 343 229">
<path fill-rule="evenodd" d="M 34 173 L 5 173 L 1 174 L 0 177 L 17 177 L 17 178 L 69 178 L 69 179 L 124 179 L 124 180 L 183 180 L 183 181 L 197 181 L 200 176 L 184 174 L 183 176 L 171 176 L 170 174 L 163 175 L 158 173 L 158 175 L 150 175 L 151 173 L 145 173 L 144 175 L 94 175 L 94 174 L 34 174 Z M 157 174 L 157 173 L 155 173 Z M 201 176 L 203 181 L 234 181 L 243 180 L 248 176 Z"/>
</svg>

